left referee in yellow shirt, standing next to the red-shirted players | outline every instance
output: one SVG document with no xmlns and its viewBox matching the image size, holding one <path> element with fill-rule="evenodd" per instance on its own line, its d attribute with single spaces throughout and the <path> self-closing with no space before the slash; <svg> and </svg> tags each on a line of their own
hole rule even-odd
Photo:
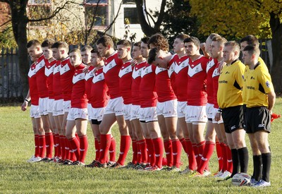
<svg viewBox="0 0 282 194">
<path fill-rule="evenodd" d="M 238 59 L 240 46 L 235 41 L 224 44 L 223 66 L 219 75 L 217 102 L 226 130 L 226 138 L 231 149 L 233 171 L 231 177 L 239 172 L 247 173 L 249 154 L 245 143 L 243 128 L 243 73 L 245 65 Z M 226 178 L 227 179 L 227 178 Z"/>
</svg>

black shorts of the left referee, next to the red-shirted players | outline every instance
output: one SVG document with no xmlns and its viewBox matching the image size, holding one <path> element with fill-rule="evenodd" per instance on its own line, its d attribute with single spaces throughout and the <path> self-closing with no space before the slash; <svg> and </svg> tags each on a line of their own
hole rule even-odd
<svg viewBox="0 0 282 194">
<path fill-rule="evenodd" d="M 243 105 L 222 109 L 221 115 L 226 133 L 232 133 L 238 128 L 243 128 Z"/>
</svg>

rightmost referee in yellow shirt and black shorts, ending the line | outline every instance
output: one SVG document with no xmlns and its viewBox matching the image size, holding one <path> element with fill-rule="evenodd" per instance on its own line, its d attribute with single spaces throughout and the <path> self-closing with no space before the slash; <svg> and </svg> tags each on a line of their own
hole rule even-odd
<svg viewBox="0 0 282 194">
<path fill-rule="evenodd" d="M 276 95 L 271 83 L 271 76 L 259 62 L 259 48 L 250 44 L 243 49 L 243 60 L 250 70 L 245 79 L 245 130 L 250 138 L 252 152 L 261 154 L 262 172 L 255 169 L 256 181 L 252 186 L 271 186 L 269 172 L 271 166 L 271 152 L 268 134 L 270 133 L 271 110 L 274 107 Z M 254 158 L 254 165 L 255 165 Z M 257 171 L 256 171 L 257 170 Z"/>
</svg>

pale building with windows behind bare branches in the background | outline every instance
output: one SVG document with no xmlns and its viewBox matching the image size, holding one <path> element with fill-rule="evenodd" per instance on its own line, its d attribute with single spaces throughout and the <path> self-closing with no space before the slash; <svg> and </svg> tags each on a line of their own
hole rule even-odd
<svg viewBox="0 0 282 194">
<path fill-rule="evenodd" d="M 37 22 L 28 25 L 28 34 L 30 36 L 46 35 L 46 33 L 60 35 L 59 40 L 64 40 L 66 33 L 71 32 L 73 37 L 75 32 L 82 29 L 89 29 L 90 23 L 96 13 L 94 20 L 94 30 L 104 32 L 111 23 L 111 28 L 106 31 L 107 35 L 123 39 L 125 31 L 128 31 L 129 37 L 135 34 L 135 41 L 144 37 L 137 17 L 137 9 L 134 0 L 73 0 L 75 4 L 68 5 L 68 9 L 61 12 L 60 15 L 53 18 L 50 22 Z M 54 3 L 55 2 L 55 3 Z M 56 3 L 57 2 L 57 3 Z M 29 0 L 27 13 L 32 18 L 38 18 L 38 14 L 48 14 L 62 6 L 66 0 Z M 147 11 L 159 11 L 161 0 L 148 1 Z M 96 11 L 96 12 L 95 12 Z M 149 18 L 149 17 L 148 17 Z M 152 20 L 150 21 L 152 24 Z M 57 38 L 58 39 L 58 38 Z"/>
</svg>

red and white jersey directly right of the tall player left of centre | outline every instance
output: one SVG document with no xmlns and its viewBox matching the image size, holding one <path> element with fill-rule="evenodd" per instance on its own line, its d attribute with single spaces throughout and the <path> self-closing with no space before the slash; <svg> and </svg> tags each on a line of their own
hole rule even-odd
<svg viewBox="0 0 282 194">
<path fill-rule="evenodd" d="M 119 91 L 123 97 L 123 104 L 132 104 L 131 84 L 133 66 L 131 66 L 131 61 L 132 60 L 123 63 L 123 66 L 121 66 L 121 70 L 118 73 Z"/>
</svg>

